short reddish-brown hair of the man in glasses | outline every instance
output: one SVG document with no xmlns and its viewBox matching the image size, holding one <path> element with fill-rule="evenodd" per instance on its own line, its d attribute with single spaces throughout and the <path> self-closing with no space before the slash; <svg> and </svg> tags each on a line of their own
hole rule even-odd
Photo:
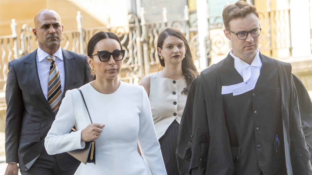
<svg viewBox="0 0 312 175">
<path fill-rule="evenodd" d="M 259 18 L 256 7 L 245 1 L 237 1 L 235 4 L 225 6 L 222 12 L 225 29 L 230 28 L 230 21 L 232 19 L 246 17 L 250 13 L 254 13 Z"/>
</svg>

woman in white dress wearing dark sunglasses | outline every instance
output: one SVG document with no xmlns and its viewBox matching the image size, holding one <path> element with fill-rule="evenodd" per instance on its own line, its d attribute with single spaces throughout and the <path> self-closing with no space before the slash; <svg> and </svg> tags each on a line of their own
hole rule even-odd
<svg viewBox="0 0 312 175">
<path fill-rule="evenodd" d="M 144 88 L 118 80 L 124 57 L 118 37 L 99 32 L 87 52 L 96 78 L 80 90 L 93 124 L 78 89 L 67 91 L 45 138 L 47 153 L 83 149 L 86 141 L 95 140 L 96 163 L 81 163 L 75 174 L 167 174 Z M 74 125 L 77 131 L 70 133 Z"/>
</svg>

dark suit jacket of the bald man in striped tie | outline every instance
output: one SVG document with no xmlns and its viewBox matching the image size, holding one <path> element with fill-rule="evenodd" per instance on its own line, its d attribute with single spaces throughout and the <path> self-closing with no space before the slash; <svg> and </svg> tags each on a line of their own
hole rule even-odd
<svg viewBox="0 0 312 175">
<path fill-rule="evenodd" d="M 85 55 L 63 49 L 62 53 L 65 69 L 63 98 L 67 90 L 80 87 L 90 81 L 90 66 Z M 37 50 L 8 64 L 6 162 L 19 163 L 23 171 L 30 168 L 32 160 L 44 149 L 44 138 L 55 119 L 55 114 L 41 89 L 36 54 Z M 63 170 L 79 166 L 79 161 L 67 153 L 57 154 L 56 159 Z"/>
</svg>

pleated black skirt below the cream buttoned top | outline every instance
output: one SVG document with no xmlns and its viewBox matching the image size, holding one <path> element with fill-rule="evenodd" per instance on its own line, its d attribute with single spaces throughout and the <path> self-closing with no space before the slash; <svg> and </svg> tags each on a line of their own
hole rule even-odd
<svg viewBox="0 0 312 175">
<path fill-rule="evenodd" d="M 179 123 L 174 120 L 165 134 L 158 140 L 168 175 L 180 175 L 175 154 L 178 145 L 178 132 Z"/>
</svg>

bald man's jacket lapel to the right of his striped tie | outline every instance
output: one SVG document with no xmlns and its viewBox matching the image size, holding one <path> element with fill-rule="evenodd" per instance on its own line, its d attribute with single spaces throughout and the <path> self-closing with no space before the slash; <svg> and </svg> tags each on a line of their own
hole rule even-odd
<svg viewBox="0 0 312 175">
<path fill-rule="evenodd" d="M 75 64 L 73 64 L 73 59 L 71 54 L 67 50 L 62 49 L 63 60 L 64 60 L 64 70 L 65 70 L 65 84 L 64 84 L 64 92 L 62 98 L 65 97 L 65 92 L 71 89 L 73 84 L 73 78 L 75 73 Z"/>
</svg>

